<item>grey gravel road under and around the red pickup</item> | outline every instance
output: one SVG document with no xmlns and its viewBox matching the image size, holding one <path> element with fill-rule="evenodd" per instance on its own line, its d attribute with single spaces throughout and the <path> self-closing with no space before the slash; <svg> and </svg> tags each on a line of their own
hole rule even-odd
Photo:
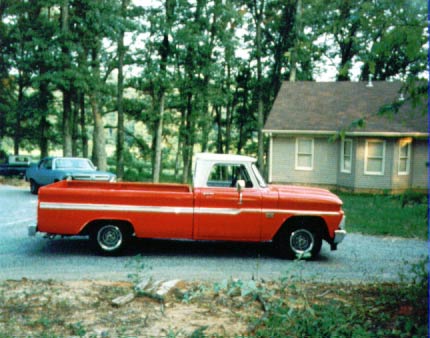
<svg viewBox="0 0 430 338">
<path fill-rule="evenodd" d="M 140 273 L 205 281 L 273 280 L 285 274 L 315 281 L 396 281 L 405 261 L 428 255 L 426 241 L 348 234 L 337 251 L 324 243 L 319 258 L 309 262 L 278 259 L 268 244 L 161 240 L 139 240 L 120 257 L 103 257 L 85 238 L 28 237 L 36 208 L 37 196 L 28 189 L 0 185 L 0 280 L 127 280 Z"/>
</svg>

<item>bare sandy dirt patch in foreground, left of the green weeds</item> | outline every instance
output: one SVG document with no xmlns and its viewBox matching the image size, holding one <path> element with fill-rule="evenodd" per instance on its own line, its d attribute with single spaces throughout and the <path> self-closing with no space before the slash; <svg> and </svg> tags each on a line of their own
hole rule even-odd
<svg viewBox="0 0 430 338">
<path fill-rule="evenodd" d="M 261 312 L 258 303 L 234 309 L 184 282 L 162 300 L 137 295 L 112 304 L 133 292 L 126 282 L 7 281 L 0 285 L 0 336 L 231 336 L 246 332 L 245 314 Z"/>
</svg>

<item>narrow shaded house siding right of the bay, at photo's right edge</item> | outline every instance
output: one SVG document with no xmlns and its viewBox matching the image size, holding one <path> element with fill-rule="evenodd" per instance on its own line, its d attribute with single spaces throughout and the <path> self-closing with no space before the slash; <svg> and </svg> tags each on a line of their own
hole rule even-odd
<svg viewBox="0 0 430 338">
<path fill-rule="evenodd" d="M 428 188 L 428 144 L 427 140 L 414 140 L 412 147 L 412 188 Z"/>
</svg>

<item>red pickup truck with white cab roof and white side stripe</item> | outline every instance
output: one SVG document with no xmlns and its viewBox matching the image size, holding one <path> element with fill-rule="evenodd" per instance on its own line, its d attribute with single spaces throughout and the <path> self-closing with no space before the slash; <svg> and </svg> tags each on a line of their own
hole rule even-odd
<svg viewBox="0 0 430 338">
<path fill-rule="evenodd" d="M 198 154 L 193 185 L 60 181 L 39 191 L 29 234 L 88 235 L 103 253 L 133 237 L 272 241 L 280 256 L 314 257 L 346 235 L 342 201 L 327 190 L 267 185 L 255 159 Z"/>
</svg>

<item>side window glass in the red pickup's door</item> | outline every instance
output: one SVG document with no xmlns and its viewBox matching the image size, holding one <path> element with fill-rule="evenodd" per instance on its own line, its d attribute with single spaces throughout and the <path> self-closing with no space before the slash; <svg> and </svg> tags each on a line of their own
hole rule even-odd
<svg viewBox="0 0 430 338">
<path fill-rule="evenodd" d="M 241 164 L 215 164 L 209 174 L 208 187 L 234 188 L 238 180 L 245 181 L 246 188 L 252 188 L 248 171 Z"/>
</svg>

